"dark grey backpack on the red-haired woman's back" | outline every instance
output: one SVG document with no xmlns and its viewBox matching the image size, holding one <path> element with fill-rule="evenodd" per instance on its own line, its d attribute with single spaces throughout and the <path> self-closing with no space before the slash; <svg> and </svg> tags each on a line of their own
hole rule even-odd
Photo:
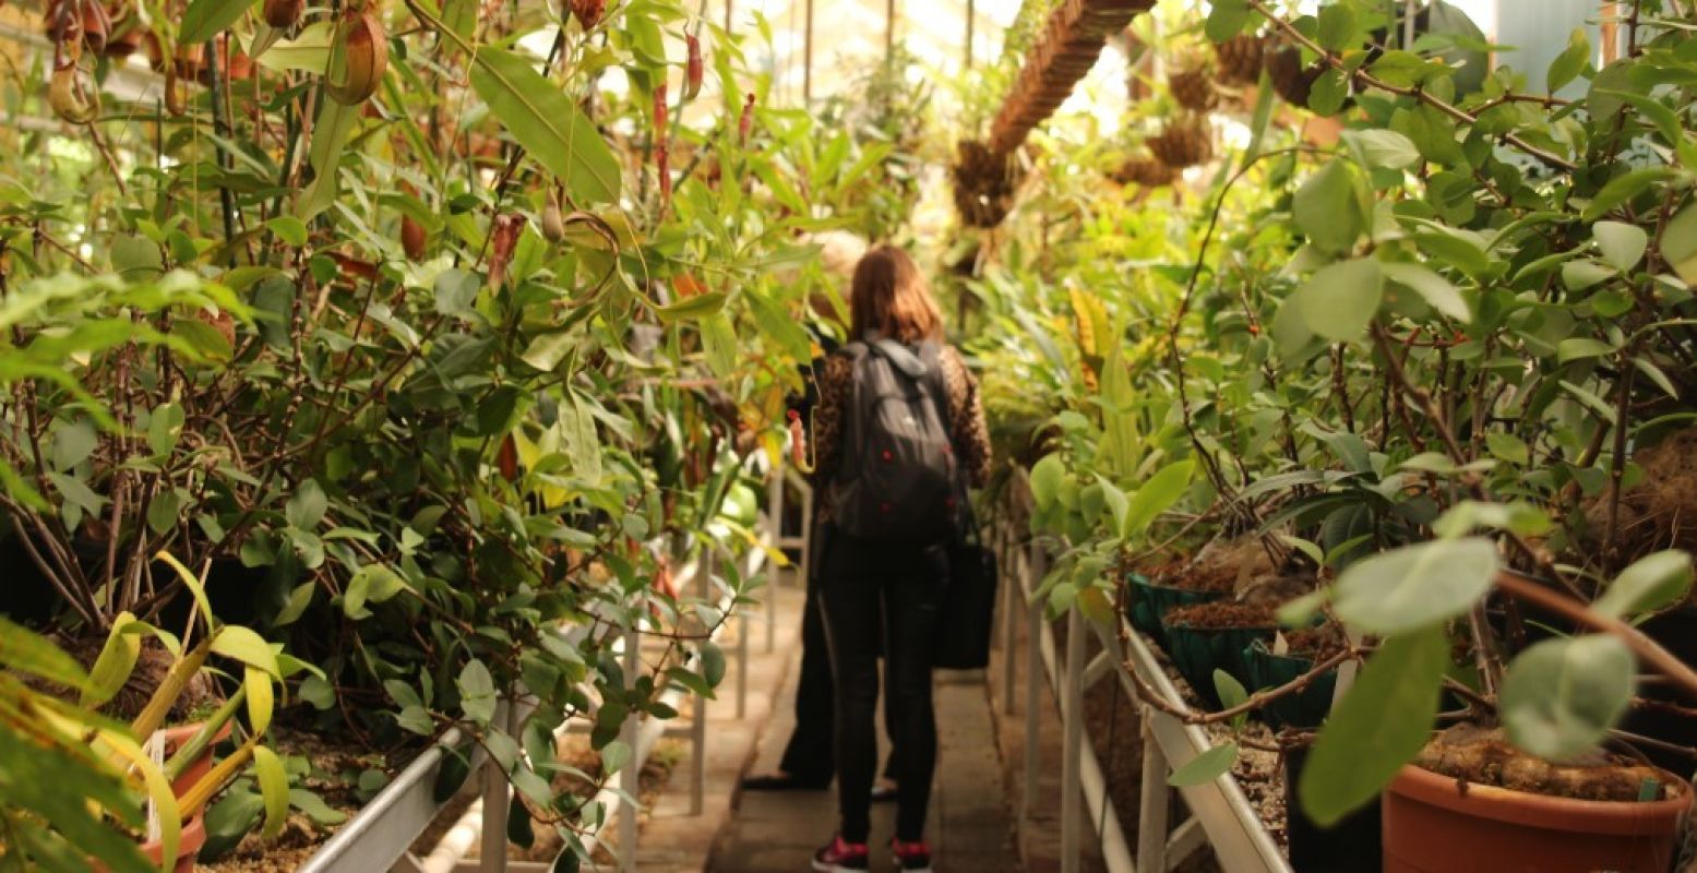
<svg viewBox="0 0 1697 873">
<path fill-rule="evenodd" d="M 957 460 L 938 343 L 843 346 L 854 389 L 832 518 L 852 537 L 942 540 L 955 530 Z"/>
</svg>

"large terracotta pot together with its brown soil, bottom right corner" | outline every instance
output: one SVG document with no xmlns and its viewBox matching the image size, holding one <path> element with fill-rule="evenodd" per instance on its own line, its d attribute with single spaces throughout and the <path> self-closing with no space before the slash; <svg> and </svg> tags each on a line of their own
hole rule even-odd
<svg viewBox="0 0 1697 873">
<path fill-rule="evenodd" d="M 1690 783 L 1663 769 L 1554 764 L 1456 725 L 1385 791 L 1385 871 L 1665 873 L 1690 805 Z"/>
</svg>

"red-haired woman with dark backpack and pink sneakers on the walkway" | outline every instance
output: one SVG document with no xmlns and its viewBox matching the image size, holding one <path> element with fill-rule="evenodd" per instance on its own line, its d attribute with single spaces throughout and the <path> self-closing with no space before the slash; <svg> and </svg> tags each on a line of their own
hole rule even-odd
<svg viewBox="0 0 1697 873">
<path fill-rule="evenodd" d="M 832 527 L 820 600 L 837 679 L 840 829 L 813 870 L 867 870 L 877 766 L 879 635 L 896 710 L 896 836 L 905 871 L 930 871 L 925 817 L 937 766 L 932 642 L 949 549 L 969 525 L 966 487 L 989 474 L 984 409 L 906 251 L 872 248 L 855 267 L 850 341 L 826 358 L 815 416 L 816 487 Z"/>
</svg>

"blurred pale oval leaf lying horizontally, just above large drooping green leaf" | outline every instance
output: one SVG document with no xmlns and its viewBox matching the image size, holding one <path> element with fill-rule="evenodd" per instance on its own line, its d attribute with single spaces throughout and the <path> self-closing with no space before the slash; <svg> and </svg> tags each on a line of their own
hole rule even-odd
<svg viewBox="0 0 1697 873">
<path fill-rule="evenodd" d="M 1473 606 L 1497 576 L 1487 538 L 1434 540 L 1358 560 L 1337 577 L 1337 615 L 1368 634 L 1437 625 Z"/>
</svg>

